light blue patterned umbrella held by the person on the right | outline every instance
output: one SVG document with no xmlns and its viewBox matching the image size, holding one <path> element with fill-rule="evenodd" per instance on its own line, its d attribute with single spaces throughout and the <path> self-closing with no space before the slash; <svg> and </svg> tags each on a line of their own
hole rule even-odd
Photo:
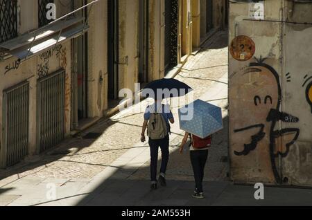
<svg viewBox="0 0 312 220">
<path fill-rule="evenodd" d="M 223 129 L 222 109 L 202 100 L 179 109 L 180 129 L 200 138 Z"/>
</svg>

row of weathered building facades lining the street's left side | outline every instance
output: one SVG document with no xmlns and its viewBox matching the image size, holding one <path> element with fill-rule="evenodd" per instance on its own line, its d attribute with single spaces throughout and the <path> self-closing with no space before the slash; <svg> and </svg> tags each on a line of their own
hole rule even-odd
<svg viewBox="0 0 312 220">
<path fill-rule="evenodd" d="M 47 17 L 49 3 L 56 17 Z M 135 93 L 135 83 L 176 72 L 225 27 L 226 6 L 225 0 L 0 0 L 0 167 L 46 152 L 107 116 L 125 98 L 121 89 Z"/>
</svg>

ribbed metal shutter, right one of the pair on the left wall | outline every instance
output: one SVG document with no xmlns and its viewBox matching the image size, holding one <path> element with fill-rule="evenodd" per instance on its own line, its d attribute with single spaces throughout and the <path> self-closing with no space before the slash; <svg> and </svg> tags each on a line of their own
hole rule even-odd
<svg viewBox="0 0 312 220">
<path fill-rule="evenodd" d="M 37 149 L 44 152 L 64 139 L 65 71 L 39 80 L 37 89 Z"/>
</svg>

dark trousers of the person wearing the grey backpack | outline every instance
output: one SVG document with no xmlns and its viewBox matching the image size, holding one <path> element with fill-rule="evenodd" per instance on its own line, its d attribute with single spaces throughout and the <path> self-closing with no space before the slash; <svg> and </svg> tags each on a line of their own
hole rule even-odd
<svg viewBox="0 0 312 220">
<path fill-rule="evenodd" d="M 148 140 L 150 145 L 150 180 L 152 183 L 157 182 L 157 162 L 158 162 L 158 149 L 162 150 L 162 167 L 160 168 L 161 174 L 166 174 L 166 169 L 169 160 L 169 136 L 160 140 Z"/>
</svg>

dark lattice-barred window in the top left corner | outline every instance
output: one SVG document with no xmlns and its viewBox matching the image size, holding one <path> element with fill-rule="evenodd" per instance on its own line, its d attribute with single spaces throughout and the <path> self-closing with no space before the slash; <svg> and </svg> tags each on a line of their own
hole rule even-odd
<svg viewBox="0 0 312 220">
<path fill-rule="evenodd" d="M 0 0 L 0 43 L 17 37 L 17 0 Z"/>
</svg>

